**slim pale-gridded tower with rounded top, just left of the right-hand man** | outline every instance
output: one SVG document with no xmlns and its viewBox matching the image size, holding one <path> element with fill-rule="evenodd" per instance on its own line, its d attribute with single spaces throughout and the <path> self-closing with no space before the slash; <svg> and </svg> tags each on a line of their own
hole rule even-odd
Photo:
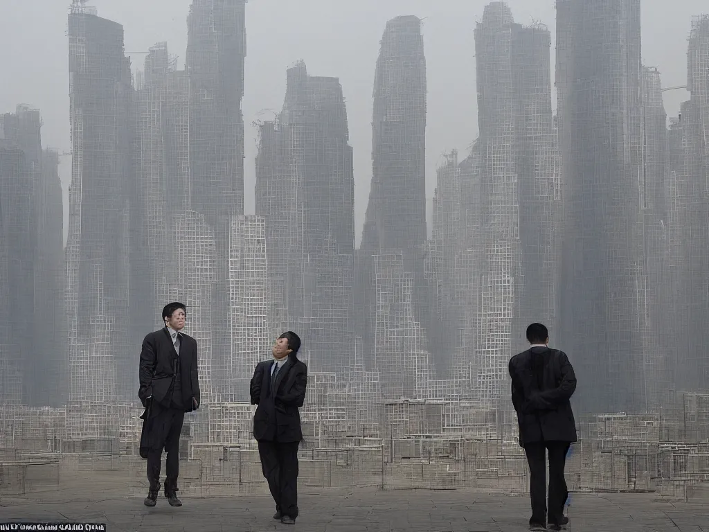
<svg viewBox="0 0 709 532">
<path fill-rule="evenodd" d="M 508 389 L 507 362 L 518 329 L 520 201 L 516 150 L 517 94 L 513 17 L 503 2 L 486 6 L 475 29 L 481 150 L 481 237 L 484 270 L 476 319 L 476 395 L 495 401 Z M 519 75 L 519 74 L 518 74 Z"/>
</svg>

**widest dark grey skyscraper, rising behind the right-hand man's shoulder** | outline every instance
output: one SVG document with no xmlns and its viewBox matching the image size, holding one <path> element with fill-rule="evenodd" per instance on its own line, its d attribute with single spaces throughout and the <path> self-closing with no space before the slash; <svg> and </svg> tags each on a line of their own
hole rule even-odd
<svg viewBox="0 0 709 532">
<path fill-rule="evenodd" d="M 640 1 L 557 1 L 557 25 L 562 345 L 586 375 L 581 409 L 644 409 Z"/>
</svg>

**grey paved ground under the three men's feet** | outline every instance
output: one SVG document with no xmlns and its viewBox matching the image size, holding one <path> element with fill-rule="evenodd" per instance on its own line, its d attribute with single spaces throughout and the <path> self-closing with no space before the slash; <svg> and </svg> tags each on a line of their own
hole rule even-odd
<svg viewBox="0 0 709 532">
<path fill-rule="evenodd" d="M 182 498 L 172 508 L 161 496 L 155 508 L 143 497 L 121 497 L 96 484 L 62 492 L 0 497 L 6 521 L 106 523 L 108 532 L 521 532 L 529 499 L 468 490 L 302 490 L 295 525 L 274 521 L 269 497 Z M 660 501 L 657 494 L 572 494 L 574 532 L 709 532 L 709 504 Z"/>
</svg>

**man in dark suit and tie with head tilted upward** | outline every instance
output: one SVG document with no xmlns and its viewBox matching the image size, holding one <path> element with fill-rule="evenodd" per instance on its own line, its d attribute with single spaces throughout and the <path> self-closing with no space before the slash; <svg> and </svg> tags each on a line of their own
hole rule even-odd
<svg viewBox="0 0 709 532">
<path fill-rule="evenodd" d="M 298 443 L 303 439 L 301 414 L 308 384 L 308 367 L 296 357 L 301 339 L 288 331 L 273 346 L 274 360 L 260 362 L 251 379 L 254 438 L 261 468 L 268 481 L 276 514 L 293 524 L 298 517 Z"/>
</svg>

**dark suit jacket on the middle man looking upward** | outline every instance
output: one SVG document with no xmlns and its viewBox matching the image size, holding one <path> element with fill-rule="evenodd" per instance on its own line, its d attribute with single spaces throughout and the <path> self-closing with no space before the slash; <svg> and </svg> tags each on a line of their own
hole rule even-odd
<svg viewBox="0 0 709 532">
<path fill-rule="evenodd" d="M 303 439 L 301 414 L 308 385 L 308 366 L 289 355 L 276 376 L 275 393 L 271 389 L 271 367 L 274 360 L 259 362 L 251 379 L 251 404 L 254 414 L 254 438 L 282 443 Z"/>
</svg>

